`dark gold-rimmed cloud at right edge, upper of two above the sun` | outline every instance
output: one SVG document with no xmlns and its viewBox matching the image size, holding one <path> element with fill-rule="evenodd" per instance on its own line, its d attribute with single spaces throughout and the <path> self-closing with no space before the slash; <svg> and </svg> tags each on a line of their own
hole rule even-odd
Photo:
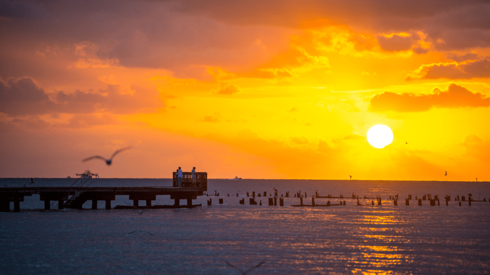
<svg viewBox="0 0 490 275">
<path fill-rule="evenodd" d="M 469 57 L 469 56 L 468 56 Z M 468 60 L 461 63 L 432 63 L 422 65 L 407 76 L 407 80 L 413 79 L 470 79 L 490 77 L 490 58 Z"/>
</svg>

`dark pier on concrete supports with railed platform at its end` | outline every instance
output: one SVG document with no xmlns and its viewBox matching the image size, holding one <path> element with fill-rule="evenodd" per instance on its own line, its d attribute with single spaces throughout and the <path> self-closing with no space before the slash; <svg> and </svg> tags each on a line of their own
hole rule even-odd
<svg viewBox="0 0 490 275">
<path fill-rule="evenodd" d="M 0 211 L 9 212 L 10 202 L 14 202 L 14 212 L 19 212 L 20 203 L 24 202 L 25 196 L 39 194 L 41 201 L 44 201 L 44 209 L 52 207 L 76 208 L 81 209 L 87 201 L 92 201 L 92 209 L 97 209 L 99 201 L 105 202 L 105 209 L 111 209 L 111 201 L 116 200 L 116 196 L 129 195 L 129 200 L 133 201 L 131 207 L 114 208 L 139 208 L 139 201 L 146 201 L 147 208 L 179 208 L 193 207 L 192 200 L 197 196 L 202 196 L 207 191 L 207 173 L 197 172 L 197 182 L 192 183 L 191 173 L 183 172 L 181 179 L 182 187 L 179 187 L 176 173 L 173 175 L 173 186 L 153 186 L 153 187 L 91 187 L 93 176 L 96 174 L 85 171 L 79 174 L 72 186 L 69 187 L 1 187 L 0 188 Z M 174 200 L 173 206 L 152 206 L 152 201 L 156 200 L 157 195 L 170 195 Z M 187 205 L 181 206 L 180 200 L 187 200 Z"/>
</svg>

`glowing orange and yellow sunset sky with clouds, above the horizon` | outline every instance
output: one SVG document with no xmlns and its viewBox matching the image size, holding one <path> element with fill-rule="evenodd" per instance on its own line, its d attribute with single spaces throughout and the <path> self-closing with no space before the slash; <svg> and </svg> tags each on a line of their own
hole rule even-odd
<svg viewBox="0 0 490 275">
<path fill-rule="evenodd" d="M 0 177 L 490 181 L 489 14 L 488 0 L 0 0 Z M 381 149 L 377 124 L 393 132 Z"/>
</svg>

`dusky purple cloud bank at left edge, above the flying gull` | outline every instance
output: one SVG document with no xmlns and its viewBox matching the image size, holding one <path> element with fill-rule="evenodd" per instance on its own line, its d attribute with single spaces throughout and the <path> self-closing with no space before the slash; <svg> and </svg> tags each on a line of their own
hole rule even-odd
<svg viewBox="0 0 490 275">
<path fill-rule="evenodd" d="M 156 90 L 123 91 L 119 85 L 107 85 L 107 89 L 97 92 L 46 93 L 29 77 L 0 79 L 0 112 L 8 115 L 133 114 L 151 113 L 158 108 L 163 108 L 163 103 Z"/>
</svg>

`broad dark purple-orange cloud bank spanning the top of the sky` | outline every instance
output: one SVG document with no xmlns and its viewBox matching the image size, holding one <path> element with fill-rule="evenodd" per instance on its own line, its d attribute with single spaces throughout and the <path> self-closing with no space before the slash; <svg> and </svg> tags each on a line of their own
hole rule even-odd
<svg viewBox="0 0 490 275">
<path fill-rule="evenodd" d="M 386 34 L 422 31 L 438 50 L 490 46 L 488 0 L 0 0 L 0 7 L 0 58 L 5 61 L 20 49 L 89 42 L 98 45 L 100 59 L 185 74 L 181 68 L 186 66 L 243 65 L 260 55 L 265 62 L 283 35 L 322 24 Z M 388 50 L 410 48 L 408 39 L 396 39 L 391 45 L 380 43 Z M 2 76 L 9 75 L 2 70 Z"/>
</svg>

